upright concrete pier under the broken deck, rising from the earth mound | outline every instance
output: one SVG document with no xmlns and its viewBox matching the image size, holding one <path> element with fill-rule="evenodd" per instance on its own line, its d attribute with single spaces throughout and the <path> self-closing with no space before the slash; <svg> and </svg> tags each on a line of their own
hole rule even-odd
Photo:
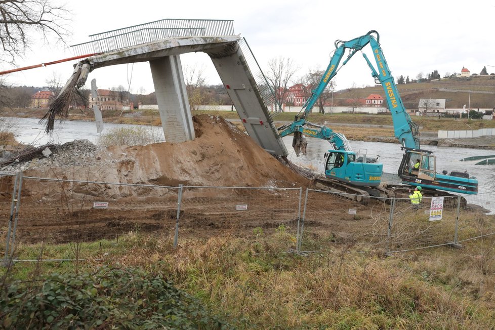
<svg viewBox="0 0 495 330">
<path fill-rule="evenodd" d="M 160 57 L 149 61 L 149 65 L 165 141 L 178 143 L 194 140 L 194 126 L 179 55 Z"/>
</svg>

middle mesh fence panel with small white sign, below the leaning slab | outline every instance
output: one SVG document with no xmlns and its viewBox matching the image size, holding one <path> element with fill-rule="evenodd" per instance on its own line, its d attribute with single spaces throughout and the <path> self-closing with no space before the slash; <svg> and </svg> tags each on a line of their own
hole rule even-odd
<svg viewBox="0 0 495 330">
<path fill-rule="evenodd" d="M 290 234 L 287 248 L 295 249 L 301 189 L 184 186 L 180 204 L 182 237 Z"/>
</svg>

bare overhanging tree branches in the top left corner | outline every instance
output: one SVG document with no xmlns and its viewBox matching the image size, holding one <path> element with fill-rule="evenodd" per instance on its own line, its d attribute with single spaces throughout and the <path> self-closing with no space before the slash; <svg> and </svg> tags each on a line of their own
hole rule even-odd
<svg viewBox="0 0 495 330">
<path fill-rule="evenodd" d="M 15 64 L 34 39 L 45 42 L 55 37 L 63 42 L 69 31 L 66 24 L 69 12 L 64 6 L 56 6 L 52 0 L 2 0 L 0 1 L 0 43 L 3 54 L 0 61 Z M 7 55 L 7 57 L 5 57 Z"/>
</svg>

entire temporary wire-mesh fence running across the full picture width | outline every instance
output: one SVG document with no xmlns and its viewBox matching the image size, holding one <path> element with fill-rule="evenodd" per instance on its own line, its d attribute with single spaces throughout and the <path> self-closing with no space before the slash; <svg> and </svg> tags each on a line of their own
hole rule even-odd
<svg viewBox="0 0 495 330">
<path fill-rule="evenodd" d="M 386 254 L 461 247 L 495 233 L 495 192 L 424 196 L 419 205 L 370 196 L 363 204 L 358 195 L 313 189 L 172 187 L 67 176 L 0 173 L 5 262 L 47 260 L 55 246 L 60 261 L 104 258 L 120 237 L 140 231 L 168 237 L 171 247 L 188 238 L 284 232 L 287 250 L 308 251 L 315 238 L 324 238 Z M 40 242 L 43 251 L 28 248 Z"/>
</svg>

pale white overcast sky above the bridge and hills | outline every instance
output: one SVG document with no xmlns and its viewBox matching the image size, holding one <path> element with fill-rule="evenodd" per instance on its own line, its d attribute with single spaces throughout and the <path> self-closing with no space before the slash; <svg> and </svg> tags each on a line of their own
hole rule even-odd
<svg viewBox="0 0 495 330">
<path fill-rule="evenodd" d="M 282 56 L 300 67 L 297 76 L 309 69 L 325 69 L 336 39 L 350 40 L 369 30 L 380 33 L 380 44 L 395 78 L 415 78 L 420 72 L 427 75 L 435 69 L 443 76 L 446 72 L 460 73 L 463 67 L 479 73 L 485 65 L 489 73 L 495 72 L 495 67 L 489 66 L 495 66 L 495 3 L 491 1 L 86 0 L 71 1 L 67 7 L 72 13 L 72 35 L 67 45 L 88 42 L 90 34 L 165 18 L 228 19 L 233 20 L 235 33 L 246 38 L 262 69 L 270 59 Z M 63 45 L 40 44 L 17 64 L 22 67 L 71 56 L 71 49 Z M 203 65 L 207 84 L 221 84 L 207 55 L 186 54 L 181 60 L 183 67 Z M 75 62 L 25 70 L 7 78 L 14 85 L 39 87 L 55 73 L 65 82 Z M 87 86 L 93 78 L 101 89 L 123 85 L 134 93 L 141 88 L 147 93 L 154 90 L 147 62 L 96 69 L 90 73 Z M 360 54 L 334 80 L 338 90 L 374 84 Z"/>
</svg>

